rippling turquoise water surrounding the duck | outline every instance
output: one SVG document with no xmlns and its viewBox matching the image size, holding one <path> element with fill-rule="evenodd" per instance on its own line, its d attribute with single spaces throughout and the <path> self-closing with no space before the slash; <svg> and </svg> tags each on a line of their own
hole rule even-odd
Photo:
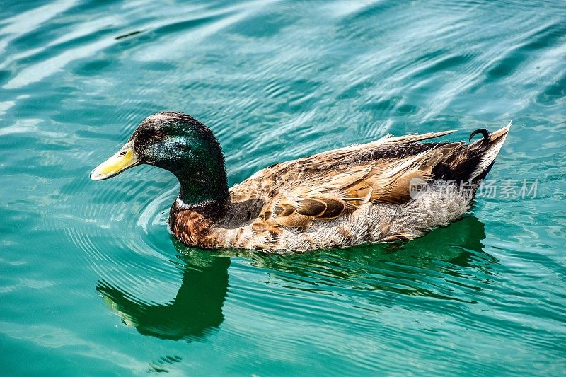
<svg viewBox="0 0 566 377">
<path fill-rule="evenodd" d="M 156 3 L 0 6 L 3 375 L 566 373 L 563 2 Z M 161 110 L 214 130 L 231 183 L 387 133 L 514 127 L 497 195 L 449 227 L 216 254 L 169 235 L 170 173 L 88 178 Z"/>
</svg>

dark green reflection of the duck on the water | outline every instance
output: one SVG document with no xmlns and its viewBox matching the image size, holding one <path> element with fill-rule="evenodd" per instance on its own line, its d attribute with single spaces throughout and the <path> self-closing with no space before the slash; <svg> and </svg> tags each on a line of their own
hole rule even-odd
<svg viewBox="0 0 566 377">
<path fill-rule="evenodd" d="M 456 295 L 449 296 L 447 292 L 451 289 L 444 292 L 429 289 L 420 284 L 420 279 L 441 273 L 466 279 L 478 289 L 481 284 L 489 284 L 490 265 L 497 260 L 483 251 L 481 240 L 484 238 L 483 223 L 474 216 L 467 216 L 449 227 L 405 243 L 304 254 L 274 255 L 243 250 L 211 252 L 188 248 L 173 240 L 177 257 L 185 265 L 183 282 L 173 301 L 146 303 L 104 281 L 98 282 L 96 290 L 125 324 L 135 327 L 142 335 L 168 340 L 197 340 L 218 328 L 224 320 L 222 307 L 228 292 L 230 257 L 245 257 L 255 266 L 270 269 L 271 277 L 292 283 L 285 284 L 286 289 L 311 291 L 313 284 L 319 291 L 324 290 L 324 286 L 328 290 L 333 286 L 350 286 L 358 292 L 359 289 L 390 291 L 454 302 L 463 300 Z M 398 284 L 388 284 L 391 279 Z M 352 300 L 356 300 L 356 296 L 352 293 Z"/>
</svg>

